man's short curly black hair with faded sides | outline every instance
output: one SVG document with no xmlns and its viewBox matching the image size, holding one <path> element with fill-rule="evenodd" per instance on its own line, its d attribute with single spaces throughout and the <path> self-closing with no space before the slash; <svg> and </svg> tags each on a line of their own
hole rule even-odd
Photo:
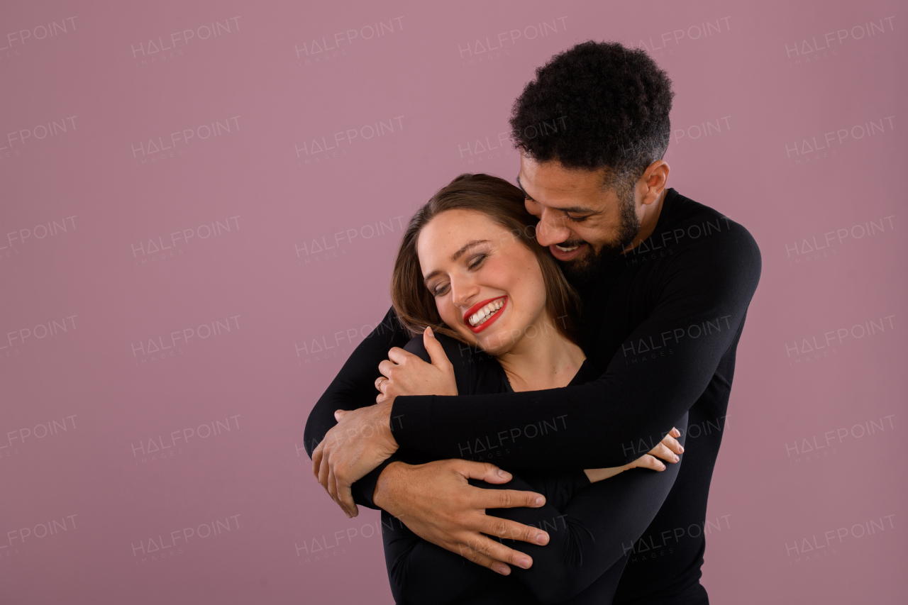
<svg viewBox="0 0 908 605">
<path fill-rule="evenodd" d="M 671 136 L 672 83 L 646 51 L 589 40 L 536 70 L 511 112 L 511 138 L 538 162 L 607 167 L 606 187 L 636 183 Z"/>
</svg>

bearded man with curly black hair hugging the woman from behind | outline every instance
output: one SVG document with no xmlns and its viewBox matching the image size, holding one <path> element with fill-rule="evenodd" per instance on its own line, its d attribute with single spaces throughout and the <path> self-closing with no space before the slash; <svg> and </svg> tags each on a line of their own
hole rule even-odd
<svg viewBox="0 0 908 605">
<path fill-rule="evenodd" d="M 385 361 L 410 339 L 392 309 L 306 426 L 313 469 L 349 516 L 356 503 L 382 508 L 420 537 L 507 574 L 508 564 L 532 561 L 488 536 L 545 544 L 548 535 L 485 514 L 540 498 L 470 486 L 509 480 L 488 461 L 620 466 L 689 412 L 686 460 L 647 531 L 624 545 L 615 602 L 708 602 L 699 584 L 706 499 L 761 260 L 744 227 L 666 188 L 672 97 L 644 51 L 618 44 L 586 42 L 538 69 L 511 117 L 518 184 L 539 219 L 538 243 L 581 293 L 583 349 L 602 376 L 456 400 L 382 393 L 367 405 L 390 382 L 375 380 L 380 363 L 388 377 L 406 363 L 426 383 L 446 372 L 398 350 Z M 556 417 L 558 431 L 533 430 Z M 449 460 L 410 466 L 396 460 L 399 446 Z"/>
</svg>

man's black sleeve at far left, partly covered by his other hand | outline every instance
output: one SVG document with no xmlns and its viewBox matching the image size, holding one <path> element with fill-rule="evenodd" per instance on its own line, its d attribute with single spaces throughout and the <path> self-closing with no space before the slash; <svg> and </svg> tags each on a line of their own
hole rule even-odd
<svg viewBox="0 0 908 605">
<path fill-rule="evenodd" d="M 400 325 L 392 307 L 379 325 L 375 326 L 369 336 L 350 354 L 341 372 L 338 372 L 328 390 L 321 395 L 309 413 L 309 420 L 303 432 L 303 445 L 310 458 L 312 451 L 325 438 L 325 433 L 337 424 L 334 420 L 335 410 L 356 410 L 375 403 L 375 397 L 379 394 L 375 390 L 375 379 L 379 377 L 379 363 L 388 359 L 388 351 L 391 348 L 402 347 L 409 340 L 410 334 Z M 393 431 L 394 412 L 391 412 L 391 416 Z M 379 475 L 386 466 L 399 459 L 399 456 L 392 455 L 374 471 L 353 483 L 353 501 L 370 509 L 378 509 L 379 507 L 372 501 L 372 494 L 379 481 Z"/>
</svg>

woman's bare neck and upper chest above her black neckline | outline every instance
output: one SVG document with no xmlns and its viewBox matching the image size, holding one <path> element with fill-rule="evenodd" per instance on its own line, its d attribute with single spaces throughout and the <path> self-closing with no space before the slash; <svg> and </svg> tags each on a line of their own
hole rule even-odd
<svg viewBox="0 0 908 605">
<path fill-rule="evenodd" d="M 498 355 L 514 391 L 539 391 L 568 386 L 587 359 L 583 350 L 570 342 L 551 322 L 536 336 L 524 336 L 515 347 Z"/>
</svg>

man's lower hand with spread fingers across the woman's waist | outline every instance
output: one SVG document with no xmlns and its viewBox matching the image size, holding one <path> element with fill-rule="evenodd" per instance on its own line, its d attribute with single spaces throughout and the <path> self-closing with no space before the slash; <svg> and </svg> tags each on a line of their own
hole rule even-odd
<svg viewBox="0 0 908 605">
<path fill-rule="evenodd" d="M 381 471 L 373 501 L 423 540 L 483 567 L 502 575 L 510 573 L 506 563 L 528 569 L 533 564 L 529 555 L 489 536 L 548 544 L 548 533 L 489 517 L 486 509 L 538 508 L 545 504 L 545 497 L 532 491 L 483 490 L 470 485 L 468 479 L 501 484 L 510 481 L 511 475 L 489 462 L 391 462 Z"/>
</svg>

